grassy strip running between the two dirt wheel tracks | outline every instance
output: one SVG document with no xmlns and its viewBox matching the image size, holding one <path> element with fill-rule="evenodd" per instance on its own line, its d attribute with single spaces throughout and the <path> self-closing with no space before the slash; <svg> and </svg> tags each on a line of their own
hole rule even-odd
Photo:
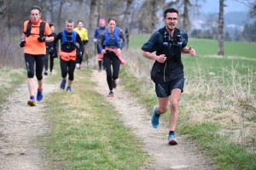
<svg viewBox="0 0 256 170">
<path fill-rule="evenodd" d="M 53 169 L 140 169 L 148 155 L 119 120 L 113 106 L 94 90 L 89 70 L 75 72 L 73 92 L 46 95 L 51 132 L 42 136 Z M 59 84 L 60 74 L 47 82 Z"/>
</svg>

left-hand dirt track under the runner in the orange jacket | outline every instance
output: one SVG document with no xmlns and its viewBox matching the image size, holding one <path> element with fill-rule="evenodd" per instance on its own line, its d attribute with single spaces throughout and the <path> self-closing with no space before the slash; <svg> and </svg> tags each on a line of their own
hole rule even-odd
<svg viewBox="0 0 256 170">
<path fill-rule="evenodd" d="M 55 90 L 47 84 L 44 99 Z M 46 94 L 46 95 L 45 95 Z M 0 107 L 0 169 L 47 169 L 44 154 L 38 149 L 38 135 L 49 127 L 44 122 L 44 99 L 37 106 L 26 105 L 29 99 L 26 82 L 9 95 L 8 102 Z"/>
</svg>

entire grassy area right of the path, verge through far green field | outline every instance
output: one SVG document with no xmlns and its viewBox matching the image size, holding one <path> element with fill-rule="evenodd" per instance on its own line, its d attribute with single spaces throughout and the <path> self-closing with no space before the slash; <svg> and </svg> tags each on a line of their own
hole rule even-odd
<svg viewBox="0 0 256 170">
<path fill-rule="evenodd" d="M 130 49 L 141 48 L 148 38 L 131 36 Z M 196 56 L 183 55 L 186 81 L 179 102 L 178 135 L 193 139 L 221 168 L 256 169 L 256 43 L 224 42 L 224 58 L 217 56 L 215 40 L 191 38 L 188 46 L 195 48 Z M 143 59 L 140 50 L 131 49 L 125 56 L 122 84 L 151 111 L 157 98 L 154 86 L 145 79 L 152 62 L 148 67 L 149 59 Z M 167 111 L 161 119 L 169 122 L 169 115 Z"/>
</svg>

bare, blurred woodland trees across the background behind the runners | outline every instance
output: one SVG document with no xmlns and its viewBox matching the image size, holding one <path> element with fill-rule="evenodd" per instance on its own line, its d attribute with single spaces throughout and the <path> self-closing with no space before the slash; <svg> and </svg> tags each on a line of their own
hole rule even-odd
<svg viewBox="0 0 256 170">
<path fill-rule="evenodd" d="M 117 20 L 117 26 L 123 31 L 130 33 L 152 33 L 156 30 L 158 24 L 163 18 L 163 9 L 177 8 L 178 28 L 183 28 L 191 32 L 191 23 L 189 16 L 191 14 L 200 14 L 201 4 L 207 0 L 0 0 L 0 25 L 1 31 L 10 32 L 10 34 L 20 35 L 23 22 L 29 20 L 32 5 L 38 5 L 42 8 L 42 19 L 55 24 L 55 30 L 64 29 L 65 20 L 72 19 L 84 21 L 84 26 L 89 32 L 89 39 L 92 39 L 94 30 L 98 26 L 98 20 L 113 17 Z M 224 4 L 225 0 L 219 0 L 218 11 L 218 29 L 211 32 L 213 38 L 218 38 L 219 49 L 223 49 L 222 42 L 224 38 L 229 39 L 229 33 L 224 32 Z M 237 1 L 239 2 L 239 1 Z M 256 15 L 256 1 L 244 0 L 241 3 L 250 7 L 248 14 L 251 17 Z M 251 29 L 251 26 L 247 26 Z M 245 32 L 242 38 L 252 38 L 252 33 Z M 255 31 L 254 31 L 255 32 Z M 195 32 L 193 32 L 195 33 Z M 200 32 L 201 37 L 211 36 L 207 32 Z M 0 37 L 1 38 L 1 37 Z M 89 41 L 89 46 L 93 42 Z M 223 55 L 224 53 L 218 53 Z"/>
</svg>

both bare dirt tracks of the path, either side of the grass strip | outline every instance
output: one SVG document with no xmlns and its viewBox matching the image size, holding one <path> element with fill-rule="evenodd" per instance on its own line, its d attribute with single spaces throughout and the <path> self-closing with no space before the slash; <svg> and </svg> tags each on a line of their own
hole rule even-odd
<svg viewBox="0 0 256 170">
<path fill-rule="evenodd" d="M 97 77 L 97 78 L 93 78 Z M 47 78 L 47 77 L 46 77 Z M 96 91 L 106 97 L 108 85 L 106 72 L 98 73 L 93 71 L 92 81 L 98 86 Z M 44 83 L 44 99 L 49 93 L 58 89 L 56 85 Z M 47 160 L 42 150 L 38 149 L 37 137 L 49 130 L 44 122 L 44 100 L 37 102 L 36 107 L 26 105 L 28 90 L 26 82 L 15 89 L 15 92 L 3 104 L 0 110 L 0 169 L 5 170 L 43 170 L 48 169 Z M 147 169 L 216 169 L 205 156 L 191 144 L 177 136 L 178 145 L 167 144 L 164 123 L 158 129 L 151 127 L 150 113 L 142 106 L 137 105 L 124 88 L 118 85 L 114 90 L 114 97 L 107 98 L 122 116 L 126 126 L 133 129 L 133 132 L 142 138 L 145 146 L 143 150 L 153 156 L 153 160 Z M 141 167 L 141 169 L 146 169 Z"/>
</svg>

